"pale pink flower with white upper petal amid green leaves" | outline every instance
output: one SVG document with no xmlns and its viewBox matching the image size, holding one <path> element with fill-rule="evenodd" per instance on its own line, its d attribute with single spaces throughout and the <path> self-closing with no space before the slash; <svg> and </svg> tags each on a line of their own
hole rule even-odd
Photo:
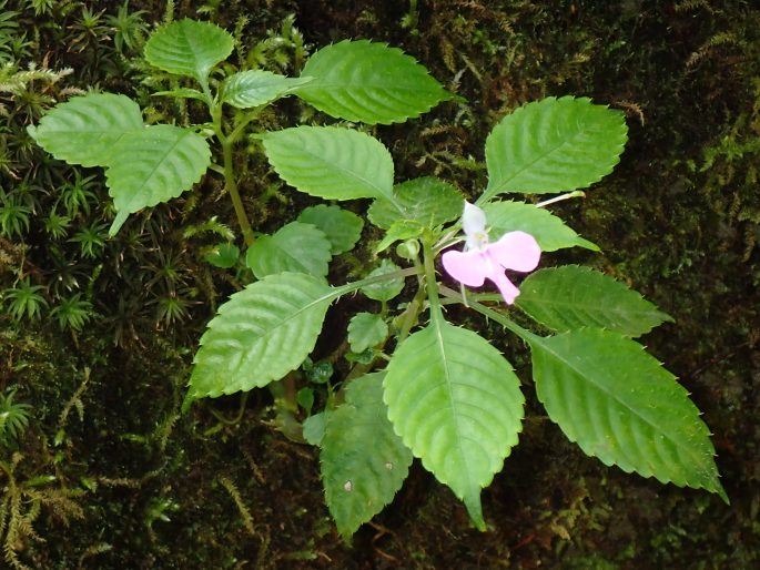
<svg viewBox="0 0 760 570">
<path fill-rule="evenodd" d="M 479 287 L 486 279 L 496 284 L 507 304 L 515 303 L 520 291 L 507 278 L 505 269 L 530 272 L 538 265 L 541 250 L 525 232 L 507 232 L 498 242 L 488 243 L 486 213 L 465 202 L 462 226 L 467 236 L 462 252 L 449 250 L 442 262 L 446 273 L 469 287 Z"/>
</svg>

